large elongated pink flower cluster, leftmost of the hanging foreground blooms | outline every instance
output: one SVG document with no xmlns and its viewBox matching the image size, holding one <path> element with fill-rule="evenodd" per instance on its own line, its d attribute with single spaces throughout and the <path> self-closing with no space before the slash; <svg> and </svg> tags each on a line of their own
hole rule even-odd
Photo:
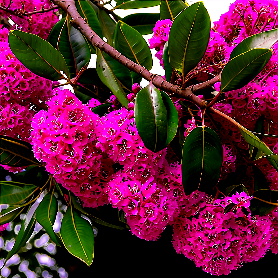
<svg viewBox="0 0 278 278">
<path fill-rule="evenodd" d="M 45 162 L 56 181 L 85 205 L 107 204 L 103 184 L 113 170 L 111 160 L 95 147 L 93 131 L 99 116 L 69 90 L 55 92 L 46 102 L 49 109 L 39 111 L 32 121 L 30 142 L 35 158 Z"/>
</svg>

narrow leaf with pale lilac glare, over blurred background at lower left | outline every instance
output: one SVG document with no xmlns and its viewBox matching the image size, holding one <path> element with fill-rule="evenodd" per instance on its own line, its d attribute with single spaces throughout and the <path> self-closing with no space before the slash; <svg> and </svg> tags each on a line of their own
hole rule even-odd
<svg viewBox="0 0 278 278">
<path fill-rule="evenodd" d="M 16 236 L 15 244 L 12 247 L 11 251 L 8 253 L 5 262 L 7 262 L 7 260 L 9 258 L 11 258 L 14 254 L 16 254 L 20 250 L 20 248 L 26 244 L 27 240 L 29 240 L 29 238 L 31 237 L 31 235 L 35 229 L 36 219 L 35 219 L 34 213 L 37 208 L 37 205 L 38 204 L 36 204 L 36 203 L 33 205 L 30 205 L 30 207 L 25 215 L 25 218 L 22 220 L 20 230 Z"/>
</svg>

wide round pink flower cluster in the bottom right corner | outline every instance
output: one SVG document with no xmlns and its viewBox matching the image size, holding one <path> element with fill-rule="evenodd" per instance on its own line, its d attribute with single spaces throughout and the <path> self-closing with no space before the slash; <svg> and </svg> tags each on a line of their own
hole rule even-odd
<svg viewBox="0 0 278 278">
<path fill-rule="evenodd" d="M 242 262 L 262 258 L 271 242 L 277 241 L 270 221 L 274 217 L 272 214 L 247 217 L 242 207 L 248 208 L 251 198 L 243 193 L 215 201 L 199 191 L 186 196 L 173 225 L 177 253 L 183 253 L 196 267 L 216 276 L 229 274 L 241 267 Z M 226 205 L 232 202 L 234 208 L 224 213 Z"/>
</svg>

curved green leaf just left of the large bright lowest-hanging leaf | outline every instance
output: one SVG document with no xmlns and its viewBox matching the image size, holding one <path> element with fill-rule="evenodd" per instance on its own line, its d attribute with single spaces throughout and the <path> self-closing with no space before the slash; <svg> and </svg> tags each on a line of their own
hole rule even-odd
<svg viewBox="0 0 278 278">
<path fill-rule="evenodd" d="M 62 242 L 53 230 L 53 224 L 58 212 L 58 201 L 53 195 L 53 192 L 52 194 L 47 194 L 38 205 L 36 210 L 36 220 L 43 226 L 43 229 L 47 232 L 51 240 L 61 247 Z"/>
</svg>

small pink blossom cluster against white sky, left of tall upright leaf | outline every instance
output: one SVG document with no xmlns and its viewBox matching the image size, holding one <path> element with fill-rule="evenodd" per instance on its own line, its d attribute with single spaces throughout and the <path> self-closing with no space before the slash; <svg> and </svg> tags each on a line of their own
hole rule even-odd
<svg viewBox="0 0 278 278">
<path fill-rule="evenodd" d="M 157 51 L 155 57 L 160 60 L 160 65 L 163 66 L 163 47 L 168 42 L 168 35 L 172 25 L 172 21 L 169 19 L 158 20 L 153 29 L 154 34 L 149 39 L 150 49 L 155 48 Z M 164 68 L 164 66 L 163 66 Z"/>
</svg>

